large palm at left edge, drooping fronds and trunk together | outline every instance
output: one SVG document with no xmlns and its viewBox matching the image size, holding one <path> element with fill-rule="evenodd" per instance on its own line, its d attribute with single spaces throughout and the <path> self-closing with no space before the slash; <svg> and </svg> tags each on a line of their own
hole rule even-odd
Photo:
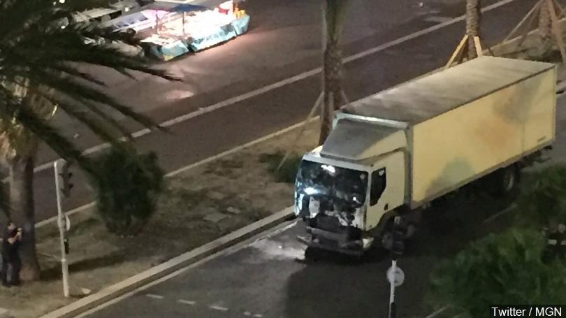
<svg viewBox="0 0 566 318">
<path fill-rule="evenodd" d="M 10 164 L 10 207 L 24 219 L 22 278 L 35 280 L 39 266 L 34 237 L 34 163 L 41 141 L 96 178 L 96 169 L 73 143 L 48 122 L 55 110 L 85 124 L 101 139 L 121 147 L 131 138 L 108 113 L 117 110 L 149 128 L 154 122 L 115 101 L 103 82 L 80 71 L 83 64 L 106 66 L 124 75 L 140 71 L 174 80 L 104 43 L 132 43 L 124 34 L 72 21 L 71 12 L 45 0 L 0 0 L 0 138 L 2 157 Z M 64 19 L 71 20 L 66 27 Z M 103 106 L 103 107 L 101 107 Z"/>
</svg>

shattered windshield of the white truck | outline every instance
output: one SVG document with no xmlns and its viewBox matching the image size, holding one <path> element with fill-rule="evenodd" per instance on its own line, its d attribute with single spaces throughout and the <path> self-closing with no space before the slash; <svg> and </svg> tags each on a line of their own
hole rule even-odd
<svg viewBox="0 0 566 318">
<path fill-rule="evenodd" d="M 319 196 L 333 203 L 359 208 L 365 202 L 368 173 L 303 160 L 296 180 L 296 194 Z"/>
</svg>

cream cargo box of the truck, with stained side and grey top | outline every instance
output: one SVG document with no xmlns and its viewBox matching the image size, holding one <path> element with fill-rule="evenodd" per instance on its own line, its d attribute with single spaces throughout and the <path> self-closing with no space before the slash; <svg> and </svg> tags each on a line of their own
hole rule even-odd
<svg viewBox="0 0 566 318">
<path fill-rule="evenodd" d="M 554 64 L 479 57 L 351 103 L 338 117 L 405 132 L 414 208 L 551 144 L 555 89 Z"/>
</svg>

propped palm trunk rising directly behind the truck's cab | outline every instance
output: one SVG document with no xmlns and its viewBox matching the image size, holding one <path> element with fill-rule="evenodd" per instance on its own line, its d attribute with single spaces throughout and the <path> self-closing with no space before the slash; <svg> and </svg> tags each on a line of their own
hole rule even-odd
<svg viewBox="0 0 566 318">
<path fill-rule="evenodd" d="M 333 113 L 344 102 L 342 89 L 342 50 L 340 41 L 349 0 L 326 0 L 326 45 L 324 48 L 324 104 L 321 108 L 319 145 L 331 131 Z"/>
</svg>

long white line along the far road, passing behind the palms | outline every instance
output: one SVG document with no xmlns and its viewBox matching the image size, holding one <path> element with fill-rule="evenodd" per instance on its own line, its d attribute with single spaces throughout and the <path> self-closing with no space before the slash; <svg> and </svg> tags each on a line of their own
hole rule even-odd
<svg viewBox="0 0 566 318">
<path fill-rule="evenodd" d="M 493 10 L 493 9 L 495 9 L 495 8 L 499 8 L 500 6 L 505 6 L 507 3 L 511 3 L 511 2 L 513 2 L 513 1 L 515 1 L 515 0 L 502 0 L 502 1 L 498 1 L 498 2 L 496 2 L 496 3 L 493 3 L 493 4 L 489 5 L 489 6 L 486 6 L 485 8 L 483 8 L 483 9 L 481 10 L 481 12 L 484 12 L 484 13 L 485 13 L 485 12 L 491 11 L 491 10 Z M 367 57 L 368 55 L 375 54 L 375 53 L 377 53 L 377 52 L 379 52 L 379 51 L 382 51 L 382 50 L 386 50 L 386 49 L 388 49 L 388 48 L 391 48 L 392 46 L 399 45 L 399 44 L 401 44 L 401 43 L 405 43 L 405 42 L 410 41 L 410 40 L 412 40 L 412 39 L 414 39 L 414 38 L 418 38 L 419 36 L 423 36 L 423 35 L 425 35 L 425 34 L 432 33 L 432 32 L 434 32 L 434 31 L 437 31 L 437 30 L 442 29 L 442 28 L 444 28 L 444 27 L 448 27 L 448 26 L 451 25 L 451 24 L 455 24 L 455 23 L 457 23 L 457 22 L 463 21 L 464 18 L 465 18 L 465 15 L 460 15 L 459 17 L 455 17 L 455 18 L 453 18 L 453 19 L 451 19 L 451 20 L 449 20 L 449 21 L 443 22 L 443 23 L 441 23 L 441 24 L 437 24 L 437 25 L 435 25 L 435 26 L 433 26 L 433 27 L 428 27 L 428 28 L 426 28 L 426 29 L 422 29 L 421 31 L 416 31 L 416 32 L 414 32 L 414 33 L 412 33 L 412 34 L 409 34 L 409 35 L 407 35 L 407 36 L 402 36 L 401 38 L 398 38 L 398 39 L 396 39 L 396 40 L 394 40 L 394 41 L 391 41 L 391 42 L 388 42 L 388 43 L 384 43 L 384 44 L 382 44 L 382 45 L 378 45 L 378 46 L 376 46 L 375 48 L 370 48 L 370 49 L 365 50 L 365 51 L 363 51 L 363 52 L 359 52 L 359 53 L 357 53 L 357 54 L 355 54 L 355 55 L 350 55 L 349 57 L 345 57 L 345 58 L 343 59 L 343 62 L 346 64 L 346 63 L 349 63 L 349 62 L 353 62 L 353 61 L 355 61 L 356 59 L 361 59 L 361 58 L 363 58 L 363 57 Z M 265 94 L 266 92 L 270 92 L 270 91 L 272 91 L 272 90 L 274 90 L 274 89 L 277 89 L 277 88 L 280 88 L 280 87 L 283 87 L 283 86 L 292 84 L 293 82 L 298 82 L 299 80 L 303 80 L 303 79 L 305 79 L 305 78 L 309 78 L 309 77 L 312 76 L 312 75 L 317 75 L 317 74 L 320 73 L 321 71 L 322 71 L 322 68 L 321 68 L 321 67 L 314 68 L 314 69 L 312 69 L 312 70 L 310 70 L 310 71 L 306 71 L 306 72 L 304 72 L 304 73 L 300 73 L 300 74 L 298 74 L 298 75 L 291 76 L 290 78 L 286 78 L 286 79 L 284 79 L 284 80 L 280 80 L 279 82 L 275 82 L 275 83 L 273 83 L 273 84 L 270 84 L 270 85 L 261 87 L 261 88 L 259 88 L 259 89 L 255 89 L 255 90 L 253 90 L 252 92 L 247 92 L 247 93 L 241 94 L 241 95 L 239 95 L 239 96 L 234 96 L 234 97 L 232 97 L 231 99 L 226 99 L 225 101 L 221 101 L 221 102 L 219 102 L 219 103 L 215 103 L 215 104 L 213 104 L 213 105 L 211 105 L 211 106 L 199 108 L 198 110 L 196 110 L 196 111 L 194 111 L 194 112 L 187 113 L 187 114 L 181 115 L 181 116 L 179 116 L 179 117 L 175 117 L 175 118 L 173 118 L 173 119 L 171 119 L 171 120 L 167 120 L 166 122 L 162 122 L 162 123 L 161 123 L 161 126 L 162 126 L 162 127 L 170 127 L 170 126 L 173 126 L 173 125 L 175 125 L 175 124 L 179 124 L 179 123 L 181 123 L 181 122 L 185 122 L 185 121 L 187 121 L 187 120 L 190 120 L 191 118 L 194 118 L 194 117 L 197 117 L 197 116 L 200 116 L 200 115 L 204 115 L 204 114 L 206 114 L 206 113 L 210 113 L 210 112 L 212 112 L 212 111 L 214 111 L 214 110 L 218 110 L 218 109 L 224 108 L 224 107 L 226 107 L 226 106 L 231 106 L 231 105 L 233 105 L 233 104 L 235 104 L 235 103 L 239 103 L 240 101 L 245 101 L 246 99 L 251 99 L 252 97 L 259 96 L 259 95 L 261 95 L 261 94 Z M 150 129 L 142 129 L 142 130 L 140 130 L 140 131 L 136 131 L 135 133 L 133 133 L 132 136 L 133 136 L 133 138 L 139 138 L 139 137 L 141 137 L 141 136 L 147 135 L 147 133 L 150 133 L 150 132 L 152 132 Z M 124 139 L 124 140 L 125 140 L 125 139 Z M 94 153 L 94 152 L 99 152 L 100 150 L 104 150 L 104 149 L 108 148 L 109 146 L 110 146 L 109 143 L 103 143 L 103 144 L 101 144 L 101 145 L 96 145 L 96 146 L 94 146 L 94 147 L 91 147 L 91 148 L 85 150 L 85 151 L 82 152 L 82 153 L 83 153 L 83 154 L 92 154 L 92 153 Z M 41 166 L 37 166 L 36 168 L 34 168 L 34 173 L 39 172 L 39 171 L 43 171 L 43 170 L 45 170 L 45 169 L 47 169 L 47 168 L 51 168 L 52 166 L 53 166 L 53 162 L 48 162 L 48 163 L 46 163 L 46 164 L 42 164 Z M 4 182 L 6 182 L 6 181 L 4 181 Z"/>
</svg>

